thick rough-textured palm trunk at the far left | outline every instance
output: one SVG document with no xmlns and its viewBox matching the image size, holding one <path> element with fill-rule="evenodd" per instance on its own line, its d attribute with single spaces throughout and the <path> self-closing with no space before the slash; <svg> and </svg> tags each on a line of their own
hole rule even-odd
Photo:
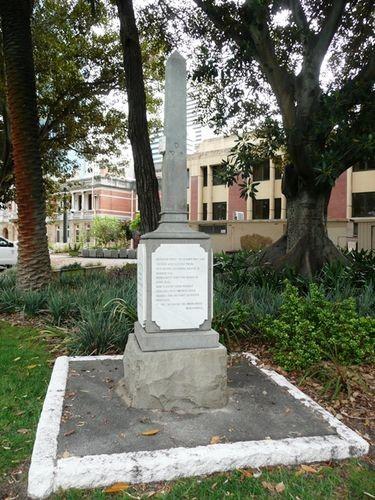
<svg viewBox="0 0 375 500">
<path fill-rule="evenodd" d="M 30 0 L 0 0 L 6 94 L 18 205 L 18 284 L 38 289 L 50 280 L 39 122 L 30 29 Z"/>
</svg>

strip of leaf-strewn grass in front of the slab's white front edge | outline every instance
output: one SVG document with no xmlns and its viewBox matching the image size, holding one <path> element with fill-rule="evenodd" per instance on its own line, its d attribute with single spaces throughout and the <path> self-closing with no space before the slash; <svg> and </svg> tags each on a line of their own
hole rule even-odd
<svg viewBox="0 0 375 500">
<path fill-rule="evenodd" d="M 309 467 L 307 467 L 309 469 Z M 315 470 L 315 472 L 312 472 Z M 226 474 L 215 474 L 208 478 L 186 479 L 174 483 L 164 483 L 147 490 L 140 486 L 128 488 L 122 493 L 111 495 L 116 499 L 163 500 L 179 499 L 280 499 L 295 500 L 354 500 L 374 498 L 375 474 L 364 463 L 352 460 L 335 466 L 314 466 L 310 472 L 303 469 L 277 467 L 263 471 L 254 477 L 251 471 L 242 470 Z M 102 500 L 108 498 L 105 491 L 72 491 L 54 495 L 54 500 Z"/>
</svg>

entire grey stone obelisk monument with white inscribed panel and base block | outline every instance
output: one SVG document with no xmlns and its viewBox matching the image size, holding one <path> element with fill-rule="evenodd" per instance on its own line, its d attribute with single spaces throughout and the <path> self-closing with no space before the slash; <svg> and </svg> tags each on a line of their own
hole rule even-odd
<svg viewBox="0 0 375 500">
<path fill-rule="evenodd" d="M 217 408 L 227 402 L 227 353 L 211 329 L 212 250 L 186 212 L 186 61 L 166 65 L 162 213 L 138 246 L 138 321 L 124 353 L 135 408 Z"/>
</svg>

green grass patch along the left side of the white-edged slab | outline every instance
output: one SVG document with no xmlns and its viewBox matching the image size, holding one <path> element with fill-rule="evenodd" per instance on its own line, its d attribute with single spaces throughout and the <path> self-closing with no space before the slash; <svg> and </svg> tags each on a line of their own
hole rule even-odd
<svg viewBox="0 0 375 500">
<path fill-rule="evenodd" d="M 0 321 L 0 480 L 31 454 L 49 359 L 36 330 Z"/>
</svg>

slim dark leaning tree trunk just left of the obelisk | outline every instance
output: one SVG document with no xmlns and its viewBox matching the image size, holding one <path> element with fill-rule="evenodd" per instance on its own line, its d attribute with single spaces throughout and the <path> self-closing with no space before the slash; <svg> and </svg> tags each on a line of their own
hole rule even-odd
<svg viewBox="0 0 375 500">
<path fill-rule="evenodd" d="M 133 151 L 141 226 L 142 232 L 149 232 L 158 227 L 160 199 L 147 125 L 141 47 L 132 0 L 116 2 L 128 94 L 128 134 Z"/>
</svg>

